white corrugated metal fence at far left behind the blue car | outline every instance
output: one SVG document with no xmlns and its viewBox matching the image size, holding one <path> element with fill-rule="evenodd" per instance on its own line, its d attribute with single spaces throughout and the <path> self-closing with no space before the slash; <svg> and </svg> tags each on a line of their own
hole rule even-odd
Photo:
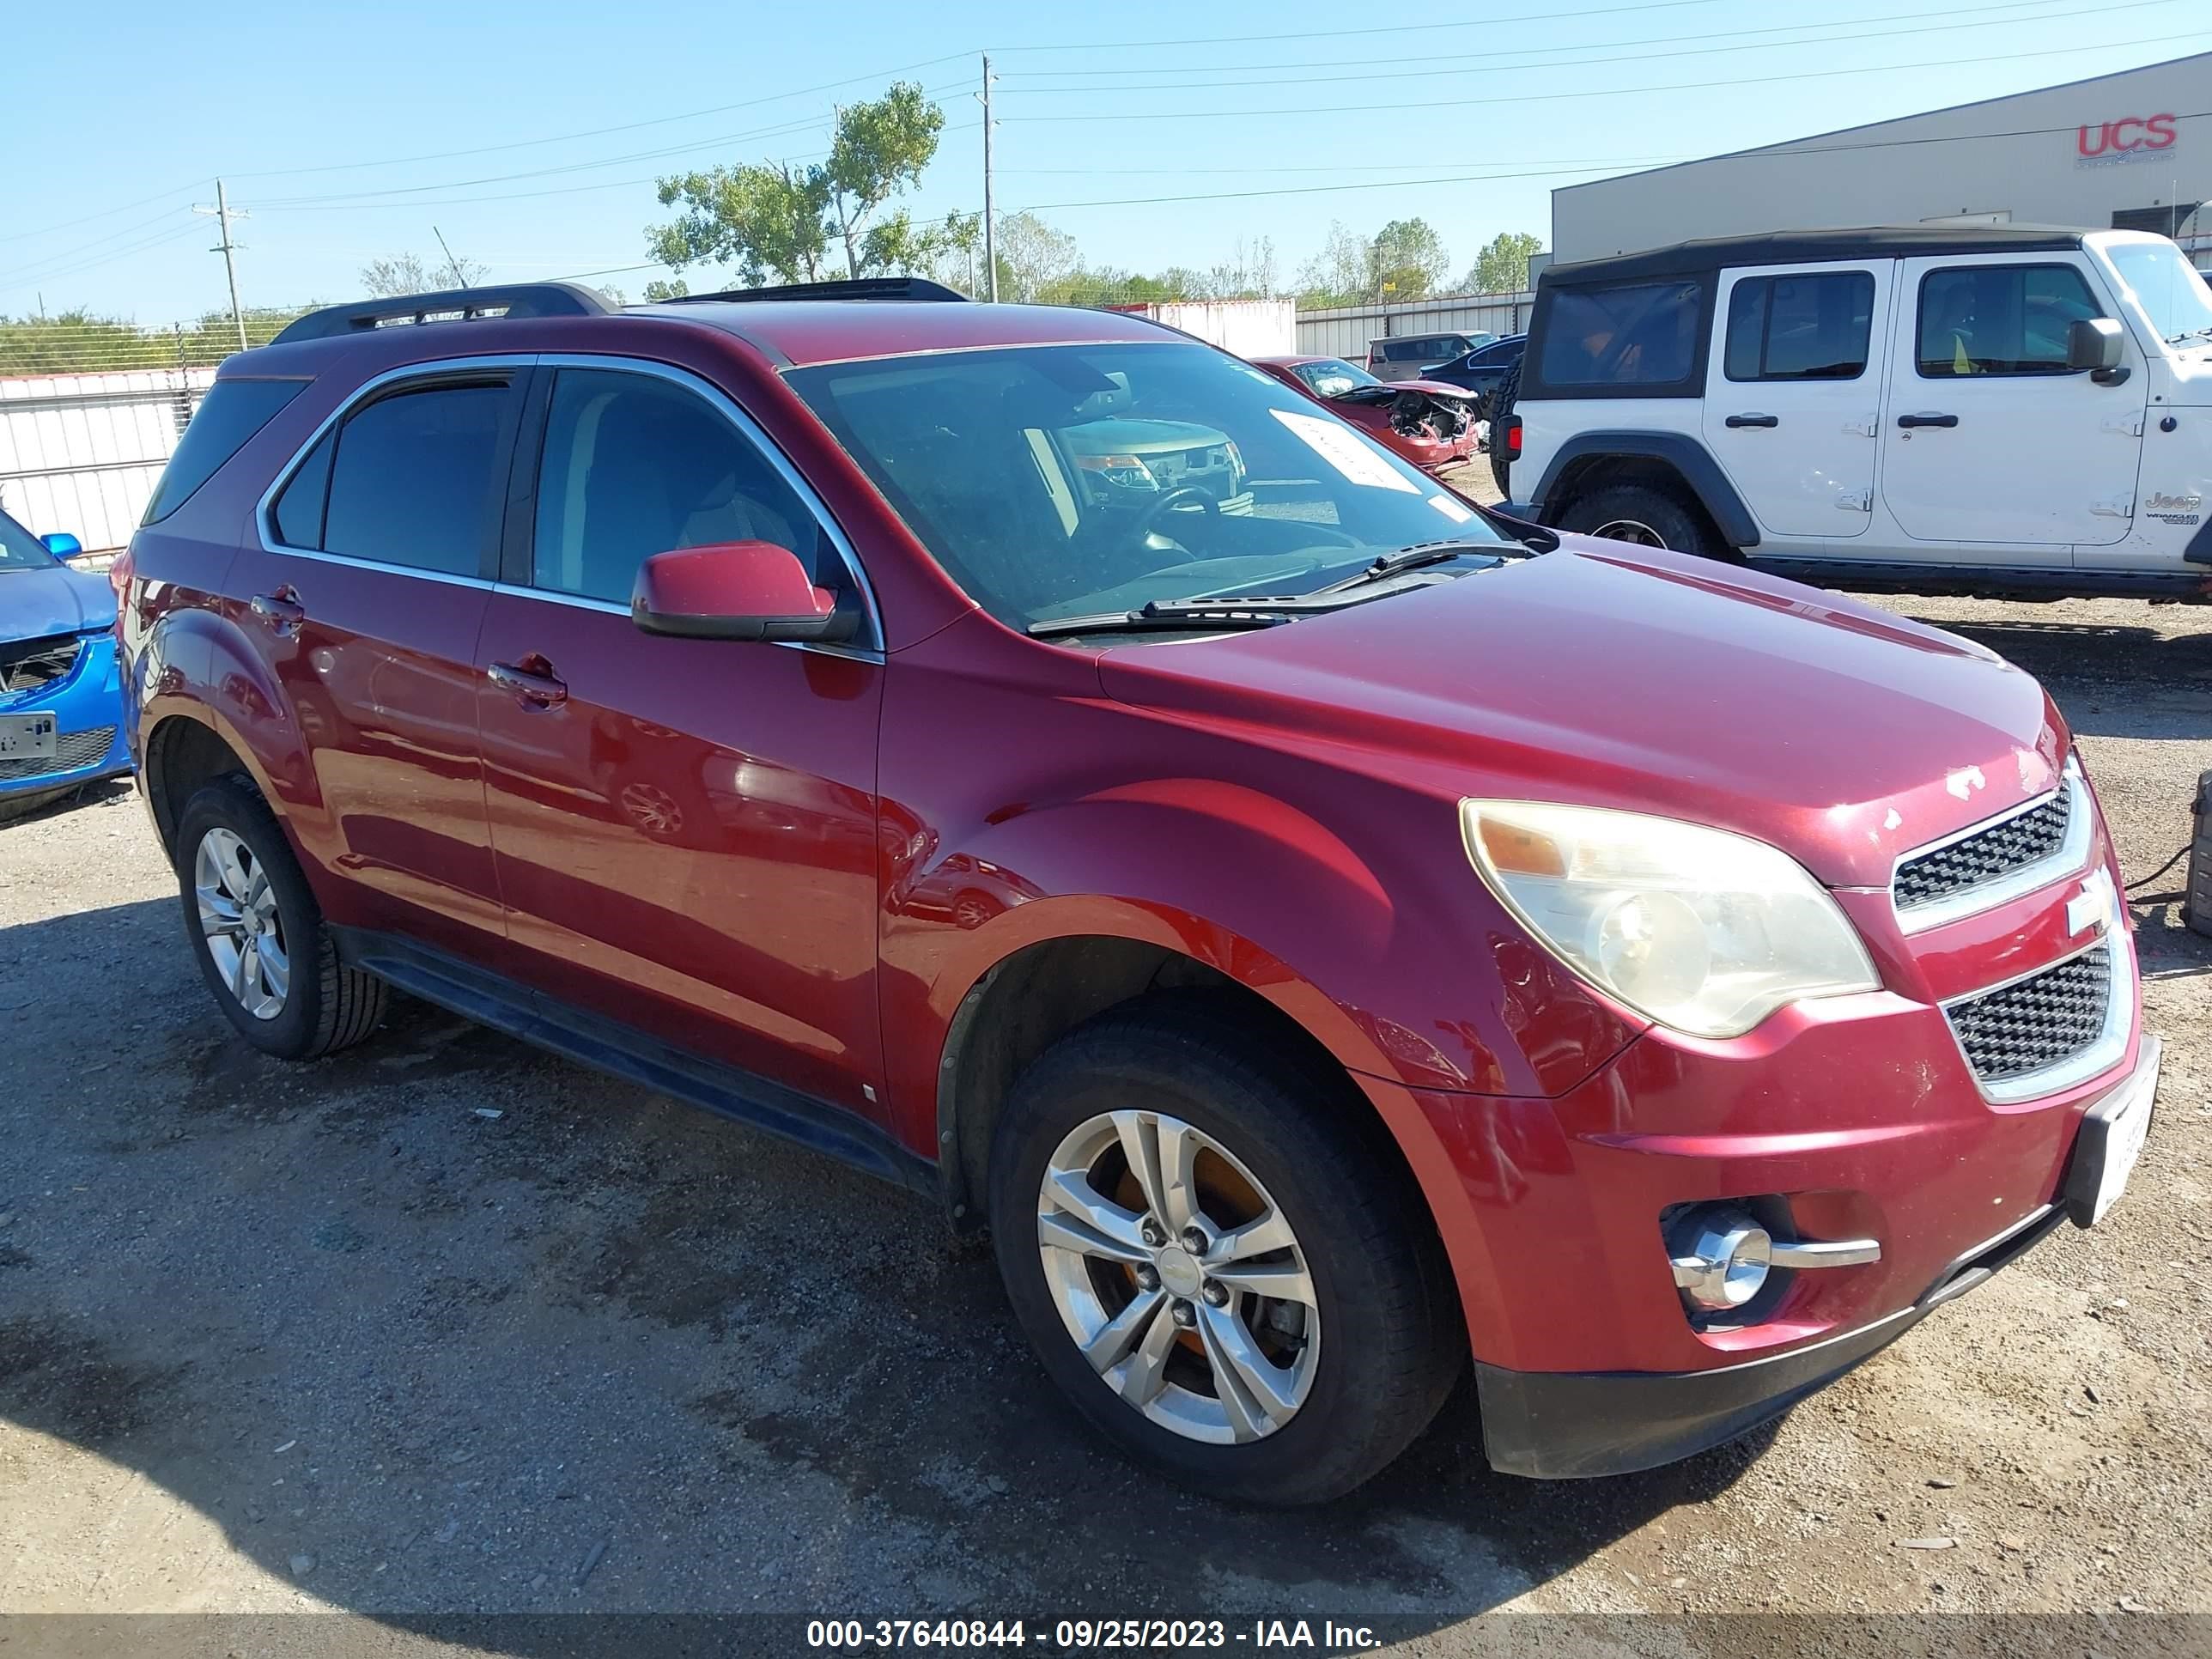
<svg viewBox="0 0 2212 1659">
<path fill-rule="evenodd" d="M 0 378 L 0 509 L 119 551 L 210 385 L 212 367 Z"/>
</svg>

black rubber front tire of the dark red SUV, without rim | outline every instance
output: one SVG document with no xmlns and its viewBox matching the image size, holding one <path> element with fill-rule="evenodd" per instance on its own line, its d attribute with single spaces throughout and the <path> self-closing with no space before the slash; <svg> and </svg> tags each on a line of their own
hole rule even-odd
<svg viewBox="0 0 2212 1659">
<path fill-rule="evenodd" d="M 1146 1102 L 1228 1148 L 1296 1232 L 1321 1345 L 1303 1405 L 1243 1444 L 1186 1438 L 1126 1405 L 1084 1358 L 1037 1245 L 1044 1170 L 1077 1126 Z M 1349 1086 L 1181 993 L 1110 1009 L 1015 1082 L 991 1148 L 991 1232 L 1015 1318 L 1075 1409 L 1130 1458 L 1210 1498 L 1318 1504 L 1380 1473 L 1429 1427 L 1467 1363 L 1458 1290 L 1411 1175 Z"/>
</svg>

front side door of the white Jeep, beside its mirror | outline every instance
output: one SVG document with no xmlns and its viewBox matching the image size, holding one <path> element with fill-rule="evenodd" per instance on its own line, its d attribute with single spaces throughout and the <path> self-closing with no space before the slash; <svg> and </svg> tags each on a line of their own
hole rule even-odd
<svg viewBox="0 0 2212 1659">
<path fill-rule="evenodd" d="M 1905 538 L 2037 564 L 2126 538 L 2148 376 L 2132 336 L 2124 380 L 2066 367 L 2068 325 L 2115 314 L 2088 261 L 1907 259 L 1898 292 L 1882 504 Z"/>
</svg>

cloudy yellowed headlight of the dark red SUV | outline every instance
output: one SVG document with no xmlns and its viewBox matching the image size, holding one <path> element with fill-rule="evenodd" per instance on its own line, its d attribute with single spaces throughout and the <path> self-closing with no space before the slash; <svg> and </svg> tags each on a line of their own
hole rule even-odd
<svg viewBox="0 0 2212 1659">
<path fill-rule="evenodd" d="M 1460 830 L 1482 880 L 1562 962 L 1694 1037 L 1882 984 L 1836 900 L 1763 841 L 1542 801 L 1462 801 Z"/>
</svg>

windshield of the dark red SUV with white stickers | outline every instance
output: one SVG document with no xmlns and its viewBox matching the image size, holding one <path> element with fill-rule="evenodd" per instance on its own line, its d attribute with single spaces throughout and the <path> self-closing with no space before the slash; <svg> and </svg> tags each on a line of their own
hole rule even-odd
<svg viewBox="0 0 2212 1659">
<path fill-rule="evenodd" d="M 1040 345 L 825 363 L 790 385 L 1000 622 L 1312 593 L 1473 509 L 1206 345 Z"/>
</svg>

